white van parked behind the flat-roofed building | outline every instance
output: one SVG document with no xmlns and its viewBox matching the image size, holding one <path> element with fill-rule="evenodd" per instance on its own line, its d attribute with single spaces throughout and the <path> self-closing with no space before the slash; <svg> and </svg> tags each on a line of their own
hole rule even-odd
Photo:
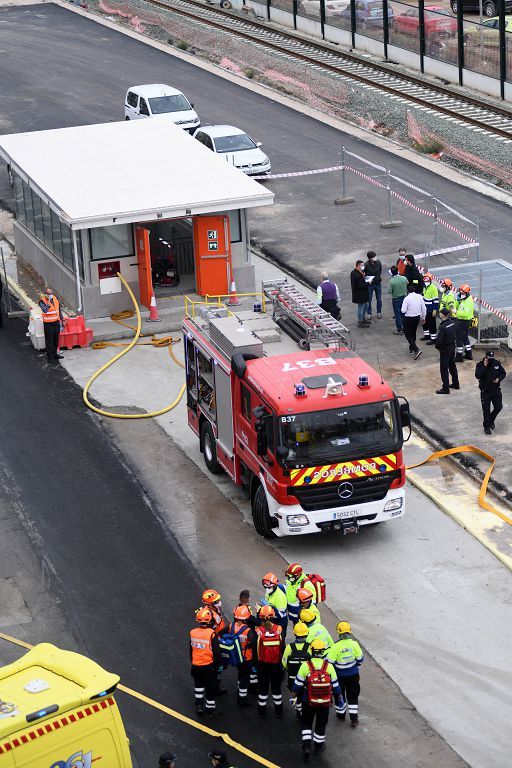
<svg viewBox="0 0 512 768">
<path fill-rule="evenodd" d="M 201 125 L 193 106 L 181 91 L 169 85 L 134 85 L 126 92 L 124 119 L 138 120 L 141 117 L 167 115 L 175 125 L 193 133 Z"/>
</svg>

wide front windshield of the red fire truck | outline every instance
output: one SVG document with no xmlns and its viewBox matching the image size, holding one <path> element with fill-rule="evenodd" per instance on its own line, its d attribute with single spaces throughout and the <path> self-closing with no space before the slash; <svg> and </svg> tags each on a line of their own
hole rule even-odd
<svg viewBox="0 0 512 768">
<path fill-rule="evenodd" d="M 284 462 L 330 464 L 349 457 L 400 450 L 401 437 L 395 401 L 354 405 L 316 413 L 279 417 Z"/>
</svg>

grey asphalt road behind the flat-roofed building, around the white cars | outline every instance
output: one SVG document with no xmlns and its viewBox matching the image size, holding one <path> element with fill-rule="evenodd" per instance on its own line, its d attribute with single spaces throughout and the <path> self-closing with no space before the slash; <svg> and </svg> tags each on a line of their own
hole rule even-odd
<svg viewBox="0 0 512 768">
<path fill-rule="evenodd" d="M 506 230 L 510 210 L 505 205 L 401 157 L 390 158 L 347 133 L 59 7 L 4 8 L 0 22 L 0 133 L 122 120 L 127 87 L 168 82 L 194 102 L 203 124 L 235 122 L 261 140 L 275 172 L 333 165 L 345 145 L 374 162 L 390 163 L 397 175 L 435 191 L 470 218 L 478 215 L 482 258 L 503 258 L 507 248 L 510 251 L 511 235 Z M 431 220 L 403 206 L 395 205 L 394 211 L 403 226 L 381 230 L 380 222 L 387 219 L 385 195 L 354 176 L 348 179 L 348 193 L 356 203 L 335 207 L 340 183 L 337 174 L 270 182 L 277 194 L 275 205 L 251 213 L 255 243 L 313 282 L 319 269 L 327 266 L 340 284 L 346 284 L 348 268 L 369 247 L 385 255 L 406 244 L 420 252 L 432 241 Z M 430 205 L 409 190 L 407 196 L 411 195 L 417 204 Z M 1 201 L 12 205 L 3 174 Z M 474 228 L 462 226 L 474 235 Z M 444 229 L 441 238 L 443 246 L 460 242 Z"/>
</svg>

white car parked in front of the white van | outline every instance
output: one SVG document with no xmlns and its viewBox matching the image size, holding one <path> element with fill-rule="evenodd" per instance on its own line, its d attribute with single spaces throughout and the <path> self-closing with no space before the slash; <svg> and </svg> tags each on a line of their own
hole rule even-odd
<svg viewBox="0 0 512 768">
<path fill-rule="evenodd" d="M 194 138 L 211 149 L 226 155 L 228 162 L 248 176 L 268 174 L 270 160 L 261 151 L 261 142 L 255 142 L 245 131 L 233 125 L 204 125 L 195 131 Z"/>
</svg>

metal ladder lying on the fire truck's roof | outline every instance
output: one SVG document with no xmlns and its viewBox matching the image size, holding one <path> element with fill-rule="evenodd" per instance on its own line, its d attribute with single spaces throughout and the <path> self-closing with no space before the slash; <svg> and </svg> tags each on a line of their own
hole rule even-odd
<svg viewBox="0 0 512 768">
<path fill-rule="evenodd" d="M 272 301 L 276 322 L 285 318 L 300 328 L 303 339 L 299 340 L 299 346 L 308 348 L 311 341 L 319 341 L 326 347 L 335 344 L 337 347 L 353 349 L 349 329 L 316 302 L 308 299 L 286 278 L 263 280 L 261 290 Z"/>
</svg>

